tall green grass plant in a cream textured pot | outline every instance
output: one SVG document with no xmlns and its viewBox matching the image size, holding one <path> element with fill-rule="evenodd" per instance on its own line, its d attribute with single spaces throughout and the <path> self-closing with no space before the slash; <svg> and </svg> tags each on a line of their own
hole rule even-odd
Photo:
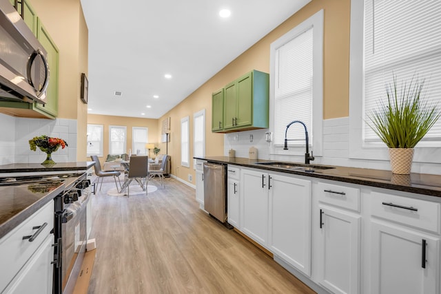
<svg viewBox="0 0 441 294">
<path fill-rule="evenodd" d="M 393 75 L 393 83 L 386 85 L 387 102 L 380 101 L 368 115 L 367 124 L 389 147 L 393 174 L 410 174 L 413 147 L 440 118 L 438 105 L 424 101 L 423 85 L 417 76 L 398 88 Z"/>
</svg>

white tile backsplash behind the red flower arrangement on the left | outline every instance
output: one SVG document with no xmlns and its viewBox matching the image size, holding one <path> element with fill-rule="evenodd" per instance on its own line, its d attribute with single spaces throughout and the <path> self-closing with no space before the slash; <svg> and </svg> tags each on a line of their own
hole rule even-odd
<svg viewBox="0 0 441 294">
<path fill-rule="evenodd" d="M 45 153 L 37 148 L 30 150 L 29 140 L 35 136 L 48 135 L 65 140 L 68 147 L 52 154 L 55 162 L 76 162 L 76 120 L 59 118 L 15 118 L 0 114 L 0 164 L 41 163 Z"/>
</svg>

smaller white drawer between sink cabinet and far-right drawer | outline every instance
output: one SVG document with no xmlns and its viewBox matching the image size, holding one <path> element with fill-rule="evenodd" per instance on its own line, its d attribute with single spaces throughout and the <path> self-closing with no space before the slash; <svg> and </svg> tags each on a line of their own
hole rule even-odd
<svg viewBox="0 0 441 294">
<path fill-rule="evenodd" d="M 319 182 L 317 189 L 320 202 L 360 212 L 360 189 L 324 182 Z"/>
</svg>

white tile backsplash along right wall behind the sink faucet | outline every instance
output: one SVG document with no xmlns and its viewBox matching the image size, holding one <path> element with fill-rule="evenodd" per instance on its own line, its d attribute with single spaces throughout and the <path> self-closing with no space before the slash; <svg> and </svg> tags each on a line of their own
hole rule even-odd
<svg viewBox="0 0 441 294">
<path fill-rule="evenodd" d="M 283 147 L 273 147 L 265 141 L 265 132 L 268 129 L 259 129 L 256 131 L 236 132 L 225 134 L 224 155 L 228 156 L 229 149 L 236 150 L 236 157 L 248 158 L 249 147 L 258 149 L 258 158 L 266 160 L 283 160 L 291 162 L 304 162 L 305 147 L 301 150 L 289 148 L 286 154 L 275 154 L 274 150 Z M 249 142 L 249 136 L 253 136 L 253 142 Z M 323 120 L 323 156 L 315 156 L 316 160 L 311 164 L 336 165 L 344 167 L 359 167 L 367 169 L 391 170 L 389 160 L 361 160 L 349 158 L 349 118 L 333 118 Z M 312 147 L 314 151 L 314 147 Z M 420 174 L 438 174 L 441 175 L 441 165 L 436 163 L 416 162 L 415 158 L 412 164 L 412 172 Z"/>
</svg>

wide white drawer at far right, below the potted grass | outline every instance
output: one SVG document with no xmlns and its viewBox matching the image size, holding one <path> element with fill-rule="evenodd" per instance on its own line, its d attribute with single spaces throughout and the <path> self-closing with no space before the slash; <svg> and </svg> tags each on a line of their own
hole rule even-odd
<svg viewBox="0 0 441 294">
<path fill-rule="evenodd" d="M 440 233 L 440 203 L 378 192 L 370 200 L 372 216 Z"/>
</svg>

